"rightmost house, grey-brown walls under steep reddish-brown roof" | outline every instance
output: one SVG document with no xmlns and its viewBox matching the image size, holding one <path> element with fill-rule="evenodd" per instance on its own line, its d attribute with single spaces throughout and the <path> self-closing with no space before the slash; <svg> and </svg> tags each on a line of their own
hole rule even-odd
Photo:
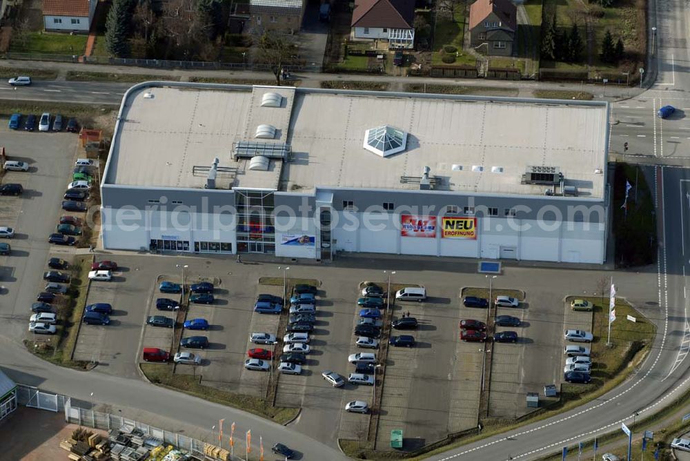
<svg viewBox="0 0 690 461">
<path fill-rule="evenodd" d="M 477 0 L 470 6 L 470 46 L 492 56 L 512 56 L 517 7 L 511 0 Z"/>
</svg>

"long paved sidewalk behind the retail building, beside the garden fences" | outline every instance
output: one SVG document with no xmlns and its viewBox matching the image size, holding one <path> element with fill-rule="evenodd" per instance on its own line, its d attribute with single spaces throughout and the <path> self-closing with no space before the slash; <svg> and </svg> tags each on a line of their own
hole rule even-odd
<svg viewBox="0 0 690 461">
<path fill-rule="evenodd" d="M 144 68 L 134 66 L 107 66 L 105 64 L 85 64 L 68 63 L 53 61 L 23 61 L 18 59 L 8 59 L 3 61 L 1 66 L 22 69 L 48 69 L 58 70 L 66 73 L 70 70 L 79 72 L 113 72 L 119 74 L 143 74 L 180 77 L 181 81 L 188 81 L 189 77 L 218 77 L 230 79 L 246 80 L 270 80 L 275 77 L 270 72 L 254 72 L 251 70 L 181 70 L 163 68 Z M 542 81 L 510 81 L 510 80 L 489 80 L 489 79 L 436 79 L 431 77 L 396 77 L 392 75 L 351 75 L 351 74 L 323 74 L 300 72 L 295 75 L 302 80 L 302 86 L 307 88 L 319 88 L 322 81 L 342 80 L 342 81 L 377 81 L 395 84 L 400 87 L 402 84 L 429 84 L 429 85 L 453 85 L 453 86 L 474 86 L 484 88 L 509 88 L 518 89 L 520 97 L 533 97 L 534 90 L 561 90 L 561 91 L 585 91 L 591 92 L 595 99 L 616 101 L 619 99 L 629 99 L 640 95 L 646 88 L 638 86 L 616 86 L 609 84 L 604 95 L 604 86 L 601 84 L 578 84 Z"/>
</svg>

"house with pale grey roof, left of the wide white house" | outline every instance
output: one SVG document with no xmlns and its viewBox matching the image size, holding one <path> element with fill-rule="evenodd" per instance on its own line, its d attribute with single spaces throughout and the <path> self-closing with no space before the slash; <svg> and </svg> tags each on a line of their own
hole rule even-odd
<svg viewBox="0 0 690 461">
<path fill-rule="evenodd" d="M 306 0 L 249 0 L 250 34 L 261 35 L 268 30 L 293 34 L 302 26 Z"/>
</svg>

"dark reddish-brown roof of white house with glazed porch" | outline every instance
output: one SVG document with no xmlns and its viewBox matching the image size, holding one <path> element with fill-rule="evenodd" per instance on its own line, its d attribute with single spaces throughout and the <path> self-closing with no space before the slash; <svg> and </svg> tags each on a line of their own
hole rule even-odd
<svg viewBox="0 0 690 461">
<path fill-rule="evenodd" d="M 355 0 L 351 27 L 411 29 L 414 0 Z"/>
</svg>

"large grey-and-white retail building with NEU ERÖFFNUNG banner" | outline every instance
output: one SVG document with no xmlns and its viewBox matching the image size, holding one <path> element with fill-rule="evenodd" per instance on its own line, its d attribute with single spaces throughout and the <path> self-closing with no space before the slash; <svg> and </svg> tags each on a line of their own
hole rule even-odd
<svg viewBox="0 0 690 461">
<path fill-rule="evenodd" d="M 104 248 L 602 263 L 609 107 L 149 82 L 119 112 Z"/>
</svg>

